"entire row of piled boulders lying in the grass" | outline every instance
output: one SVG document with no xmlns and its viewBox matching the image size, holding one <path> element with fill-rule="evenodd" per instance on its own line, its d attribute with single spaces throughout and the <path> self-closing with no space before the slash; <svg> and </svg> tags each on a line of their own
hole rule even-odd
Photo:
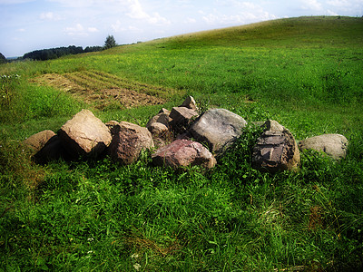
<svg viewBox="0 0 363 272">
<path fill-rule="evenodd" d="M 177 169 L 200 165 L 210 169 L 246 125 L 240 115 L 225 109 L 211 109 L 199 116 L 196 102 L 188 97 L 172 111 L 162 109 L 145 128 L 127 121 L 104 124 L 92 112 L 83 110 L 66 121 L 57 134 L 42 131 L 24 142 L 34 150 L 34 159 L 40 163 L 109 155 L 126 165 L 138 160 L 142 150 L 150 150 L 157 166 Z M 348 141 L 342 135 L 320 135 L 300 141 L 298 146 L 291 132 L 277 121 L 260 125 L 264 131 L 252 155 L 252 165 L 257 169 L 296 170 L 299 149 L 323 151 L 334 159 L 345 157 Z"/>
</svg>

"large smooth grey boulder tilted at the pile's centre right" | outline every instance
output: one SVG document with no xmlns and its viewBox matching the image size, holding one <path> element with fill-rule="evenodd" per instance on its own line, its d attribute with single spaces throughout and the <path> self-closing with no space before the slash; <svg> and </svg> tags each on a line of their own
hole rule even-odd
<svg viewBox="0 0 363 272">
<path fill-rule="evenodd" d="M 213 109 L 191 126 L 191 135 L 198 141 L 207 142 L 210 151 L 221 154 L 240 137 L 246 125 L 247 121 L 240 115 L 225 109 Z"/>
</svg>

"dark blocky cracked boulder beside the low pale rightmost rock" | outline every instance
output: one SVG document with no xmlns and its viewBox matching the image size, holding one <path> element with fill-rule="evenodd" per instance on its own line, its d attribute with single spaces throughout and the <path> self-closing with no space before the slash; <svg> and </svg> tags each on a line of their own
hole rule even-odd
<svg viewBox="0 0 363 272">
<path fill-rule="evenodd" d="M 252 165 L 259 170 L 295 170 L 299 162 L 298 144 L 288 130 L 264 131 L 253 147 Z"/>
</svg>

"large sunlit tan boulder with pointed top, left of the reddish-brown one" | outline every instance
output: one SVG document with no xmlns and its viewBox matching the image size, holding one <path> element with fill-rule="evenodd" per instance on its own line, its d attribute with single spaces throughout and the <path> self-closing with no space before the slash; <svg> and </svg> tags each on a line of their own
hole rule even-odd
<svg viewBox="0 0 363 272">
<path fill-rule="evenodd" d="M 101 154 L 112 140 L 107 126 L 88 110 L 82 110 L 66 121 L 58 135 L 73 157 Z"/>
</svg>

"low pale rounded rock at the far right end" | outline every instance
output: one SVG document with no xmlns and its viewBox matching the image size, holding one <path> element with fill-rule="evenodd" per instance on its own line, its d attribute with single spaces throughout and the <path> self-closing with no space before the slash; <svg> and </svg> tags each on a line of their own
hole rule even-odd
<svg viewBox="0 0 363 272">
<path fill-rule="evenodd" d="M 323 151 L 335 160 L 346 157 L 347 147 L 347 138 L 340 134 L 324 134 L 299 141 L 300 151 Z"/>
</svg>

